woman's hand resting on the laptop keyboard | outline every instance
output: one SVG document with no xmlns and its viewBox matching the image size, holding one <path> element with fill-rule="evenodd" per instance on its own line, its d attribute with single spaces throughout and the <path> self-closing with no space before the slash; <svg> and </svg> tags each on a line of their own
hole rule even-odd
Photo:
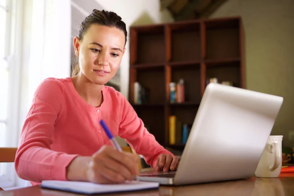
<svg viewBox="0 0 294 196">
<path fill-rule="evenodd" d="M 177 168 L 178 158 L 171 154 L 161 154 L 157 158 L 157 164 L 155 167 L 156 172 L 168 172 L 169 170 L 175 170 Z"/>
</svg>

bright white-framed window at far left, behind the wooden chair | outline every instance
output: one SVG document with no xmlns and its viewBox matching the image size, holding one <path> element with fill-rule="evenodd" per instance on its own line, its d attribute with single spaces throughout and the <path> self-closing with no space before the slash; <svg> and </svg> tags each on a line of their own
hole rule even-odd
<svg viewBox="0 0 294 196">
<path fill-rule="evenodd" d="M 18 0 L 0 0 L 0 147 L 17 147 L 19 74 L 17 35 Z M 18 5 L 19 6 L 19 5 Z M 16 34 L 18 33 L 18 34 Z M 13 163 L 0 163 L 0 187 L 15 186 Z"/>
</svg>

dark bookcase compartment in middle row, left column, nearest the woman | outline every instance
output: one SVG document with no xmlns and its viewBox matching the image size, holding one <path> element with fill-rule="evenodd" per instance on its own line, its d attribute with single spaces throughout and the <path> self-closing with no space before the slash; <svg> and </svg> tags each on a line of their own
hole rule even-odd
<svg viewBox="0 0 294 196">
<path fill-rule="evenodd" d="M 164 66 L 156 69 L 137 69 L 136 81 L 149 89 L 149 102 L 147 104 L 164 103 L 165 101 L 165 69 Z"/>
</svg>

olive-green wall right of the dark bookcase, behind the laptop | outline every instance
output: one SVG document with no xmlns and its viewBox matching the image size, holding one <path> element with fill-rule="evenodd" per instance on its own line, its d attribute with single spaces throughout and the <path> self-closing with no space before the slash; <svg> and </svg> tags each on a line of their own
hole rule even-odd
<svg viewBox="0 0 294 196">
<path fill-rule="evenodd" d="M 228 0 L 211 18 L 241 16 L 247 89 L 284 97 L 272 135 L 294 130 L 294 0 Z M 294 138 L 293 138 L 294 139 Z M 292 142 L 291 144 L 294 147 Z"/>
</svg>

